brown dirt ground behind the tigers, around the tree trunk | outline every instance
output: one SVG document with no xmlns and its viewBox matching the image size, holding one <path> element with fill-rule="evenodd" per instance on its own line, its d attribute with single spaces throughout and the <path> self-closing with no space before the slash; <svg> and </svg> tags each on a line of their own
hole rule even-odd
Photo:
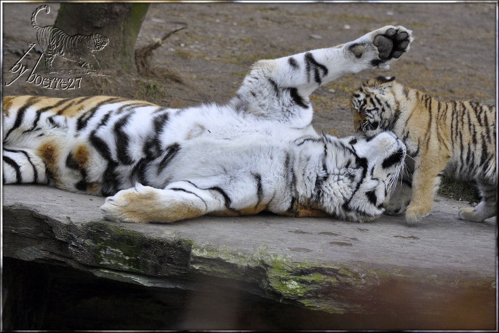
<svg viewBox="0 0 499 333">
<path fill-rule="evenodd" d="M 403 25 L 415 40 L 389 71 L 344 76 L 313 95 L 316 129 L 352 131 L 349 96 L 364 80 L 396 76 L 441 98 L 487 100 L 496 95 L 496 3 L 153 3 L 136 48 L 187 24 L 153 51 L 148 77 L 84 76 L 80 89 L 37 87 L 8 70 L 36 42 L 30 16 L 40 4 L 3 3 L 3 95 L 57 97 L 91 94 L 141 98 L 164 106 L 228 101 L 262 58 L 277 58 L 353 40 L 385 25 Z M 55 21 L 59 4 L 38 16 Z M 112 43 L 112 41 L 111 41 Z M 30 52 L 33 65 L 40 53 Z M 95 53 L 97 59 L 98 52 Z M 63 60 L 65 61 L 65 60 Z M 43 61 L 42 61 L 43 63 Z M 101 63 L 106 68 L 105 63 Z M 179 77 L 172 79 L 168 72 Z M 26 76 L 26 75 L 25 75 Z"/>
</svg>

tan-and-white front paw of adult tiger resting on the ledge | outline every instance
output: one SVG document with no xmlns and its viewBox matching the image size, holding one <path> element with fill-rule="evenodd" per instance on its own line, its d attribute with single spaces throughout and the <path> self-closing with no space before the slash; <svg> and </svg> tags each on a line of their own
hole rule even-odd
<svg viewBox="0 0 499 333">
<path fill-rule="evenodd" d="M 153 187 L 137 185 L 107 197 L 100 209 L 106 220 L 128 223 L 149 222 L 148 208 L 154 206 L 156 194 L 156 189 Z"/>
</svg>

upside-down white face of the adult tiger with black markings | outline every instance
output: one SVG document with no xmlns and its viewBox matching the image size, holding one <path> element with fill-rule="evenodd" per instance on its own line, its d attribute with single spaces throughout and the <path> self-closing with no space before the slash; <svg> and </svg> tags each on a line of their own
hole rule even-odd
<svg viewBox="0 0 499 333">
<path fill-rule="evenodd" d="M 373 138 L 342 138 L 344 156 L 348 156 L 345 167 L 350 170 L 352 192 L 344 197 L 342 209 L 351 220 L 370 221 L 383 213 L 385 201 L 392 185 L 395 184 L 406 154 L 406 147 L 390 131 L 382 132 Z M 338 156 L 328 156 L 339 161 Z"/>
</svg>

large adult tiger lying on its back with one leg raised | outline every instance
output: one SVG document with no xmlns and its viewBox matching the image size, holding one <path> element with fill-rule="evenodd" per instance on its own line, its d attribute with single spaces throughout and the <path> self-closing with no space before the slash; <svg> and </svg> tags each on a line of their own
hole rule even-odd
<svg viewBox="0 0 499 333">
<path fill-rule="evenodd" d="M 5 97 L 4 182 L 113 195 L 101 209 L 123 222 L 263 210 L 370 220 L 405 147 L 390 132 L 370 141 L 317 135 L 308 94 L 347 72 L 386 67 L 410 39 L 389 26 L 342 47 L 261 60 L 225 106 Z"/>
</svg>

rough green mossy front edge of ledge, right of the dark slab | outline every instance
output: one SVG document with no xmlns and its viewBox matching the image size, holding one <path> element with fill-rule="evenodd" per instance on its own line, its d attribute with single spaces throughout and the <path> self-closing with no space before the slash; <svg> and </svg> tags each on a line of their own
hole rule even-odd
<svg viewBox="0 0 499 333">
<path fill-rule="evenodd" d="M 332 313 L 345 312 L 341 302 L 333 296 L 334 289 L 340 285 L 352 287 L 364 283 L 358 273 L 346 268 L 296 262 L 289 256 L 269 253 L 267 246 L 244 254 L 227 245 L 193 244 L 191 270 L 220 278 L 256 282 L 269 296 L 273 294 L 280 301 L 299 302 Z"/>
</svg>

